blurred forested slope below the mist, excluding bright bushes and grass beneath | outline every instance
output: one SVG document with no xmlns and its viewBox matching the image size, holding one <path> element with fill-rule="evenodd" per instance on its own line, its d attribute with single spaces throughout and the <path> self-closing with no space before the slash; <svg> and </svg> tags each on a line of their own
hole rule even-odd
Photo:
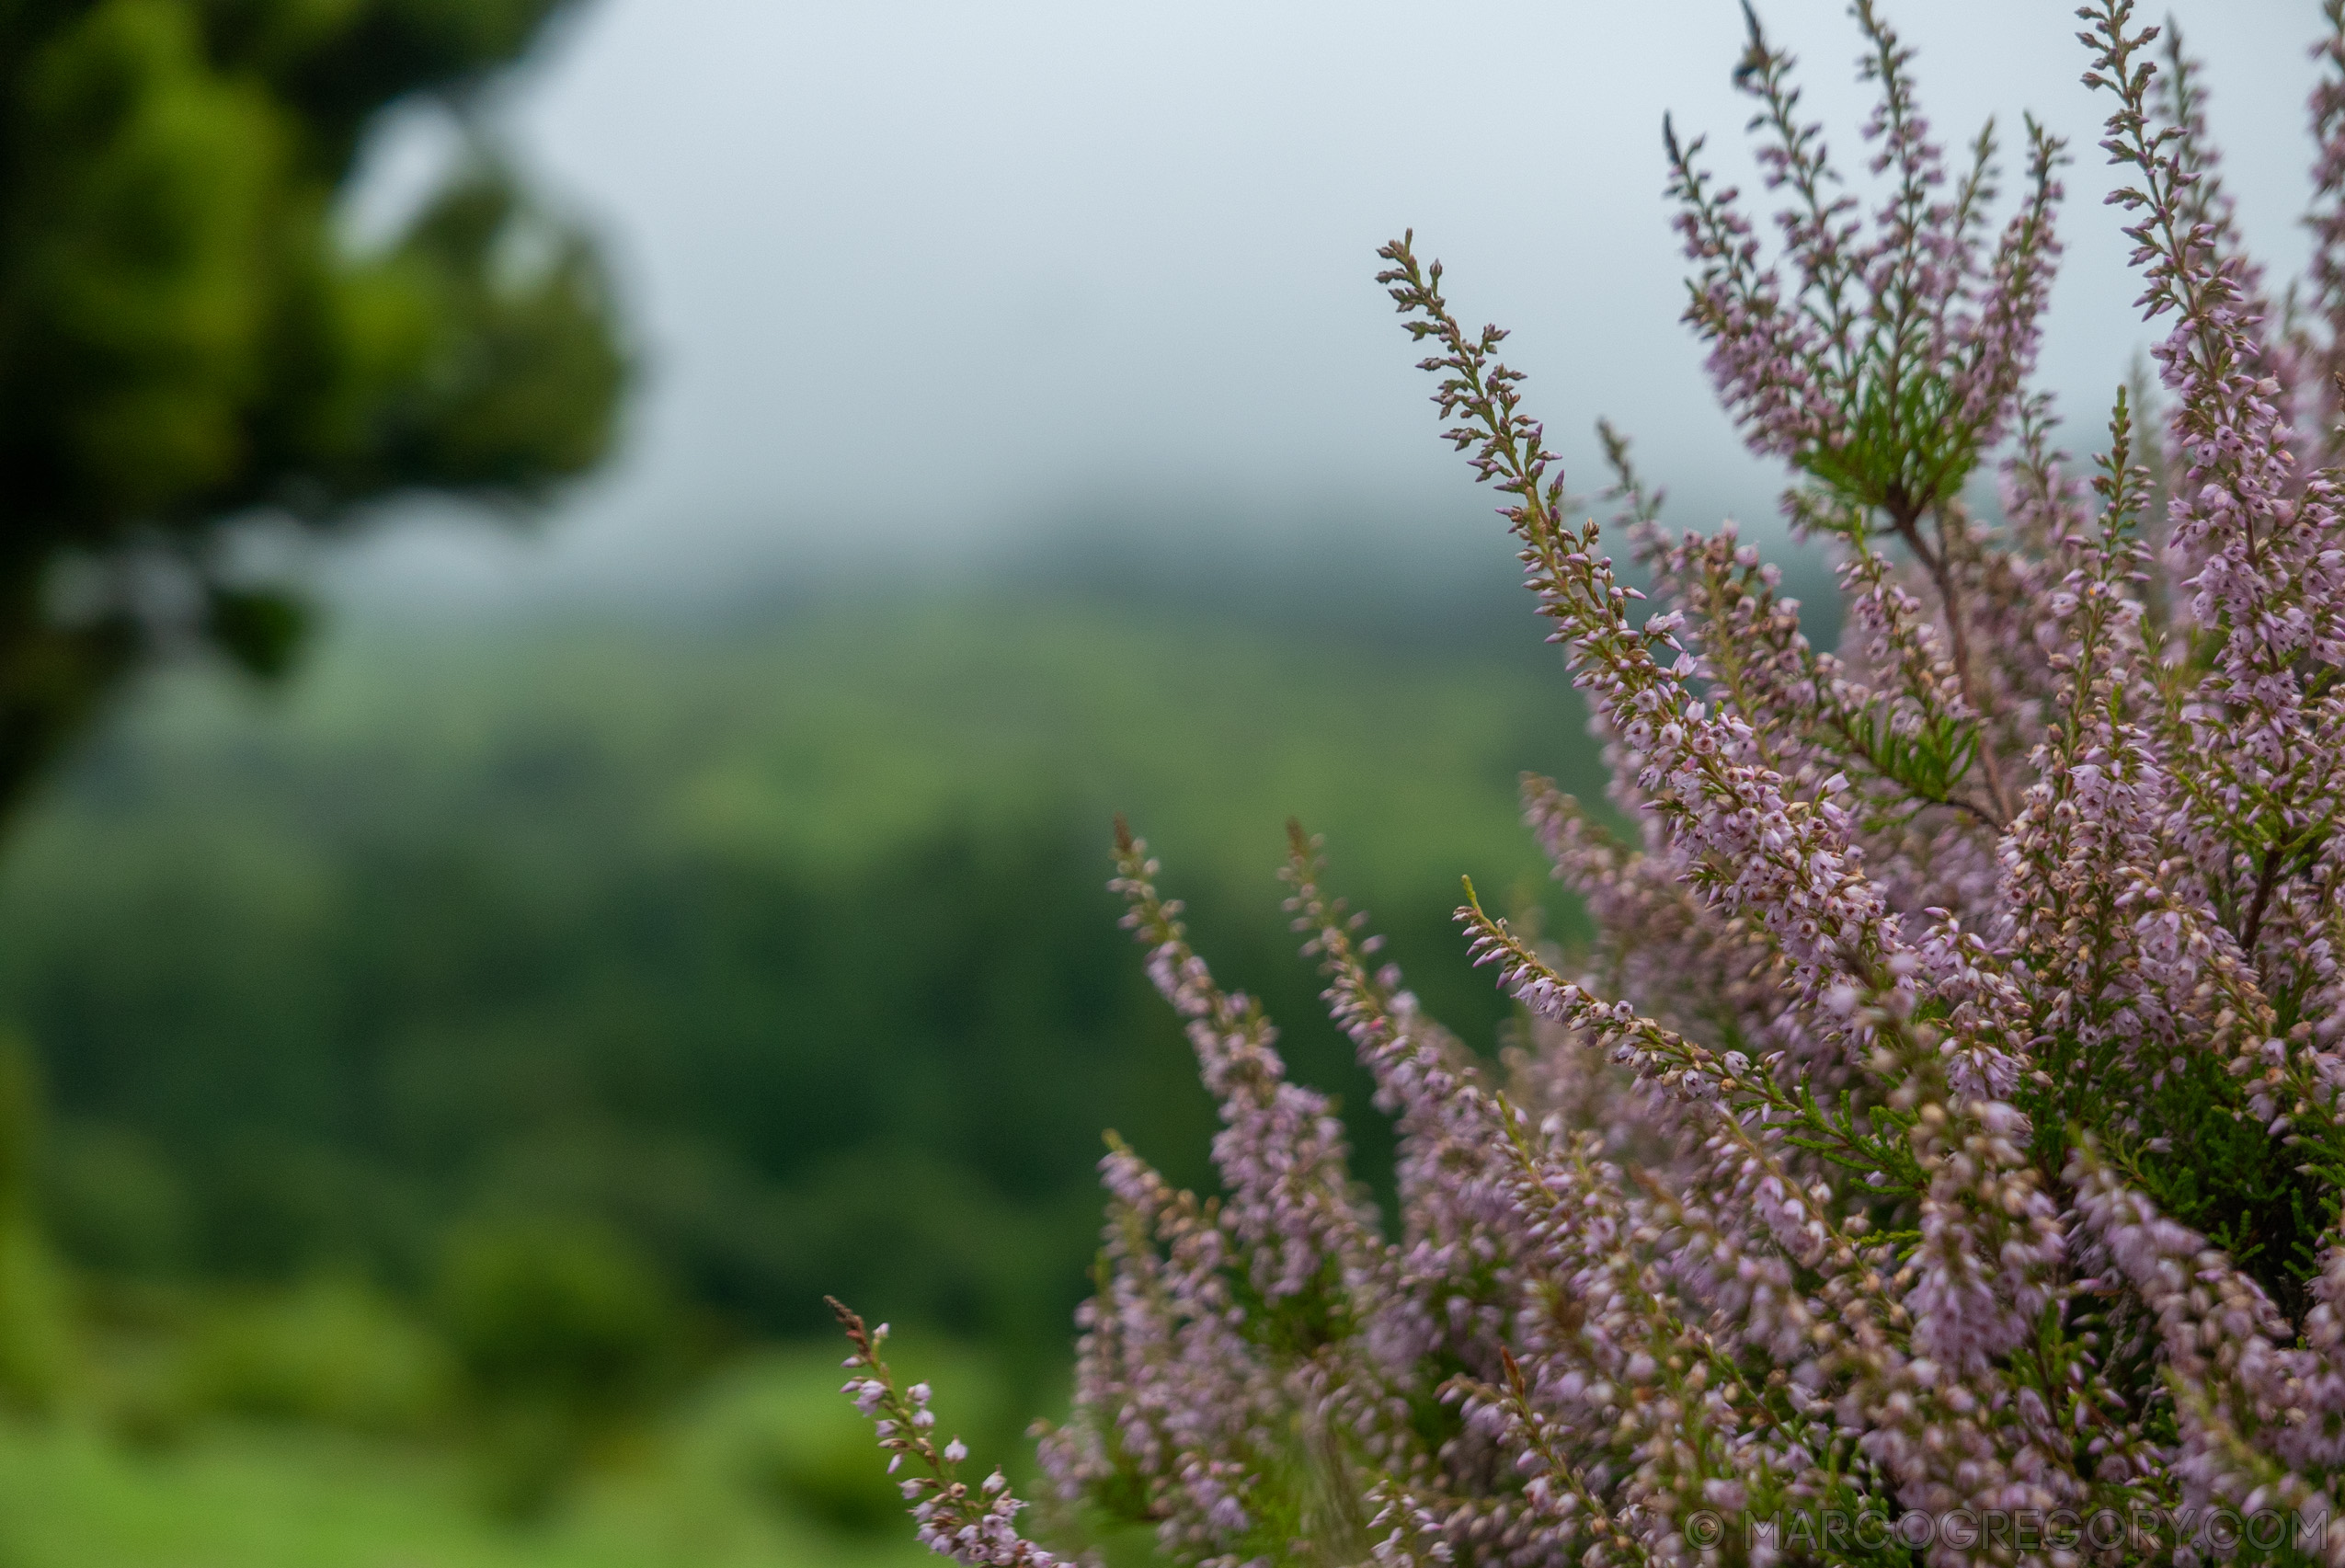
<svg viewBox="0 0 2345 1568">
<path fill-rule="evenodd" d="M 1210 1186 L 1109 809 L 1374 1172 L 1280 823 L 1330 832 L 1419 991 L 1491 1043 L 1447 916 L 1456 872 L 1543 893 L 1522 766 L 1597 790 L 1552 666 L 1090 600 L 378 633 L 281 703 L 181 677 L 0 877 L 42 1214 L 101 1280 L 413 1296 L 467 1226 L 589 1219 L 725 1334 L 823 1331 L 832 1291 L 1058 1357 L 1102 1130 Z"/>
</svg>

